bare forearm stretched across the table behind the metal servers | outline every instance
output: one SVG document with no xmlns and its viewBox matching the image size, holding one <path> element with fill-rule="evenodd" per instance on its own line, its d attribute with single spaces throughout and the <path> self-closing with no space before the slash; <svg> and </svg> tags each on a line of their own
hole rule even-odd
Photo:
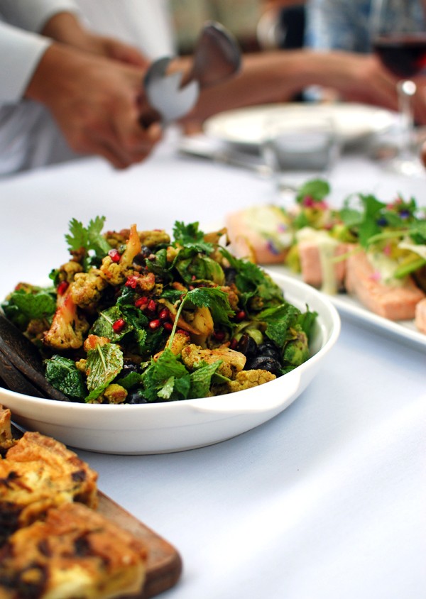
<svg viewBox="0 0 426 599">
<path fill-rule="evenodd" d="M 332 88 L 347 101 L 396 110 L 396 82 L 373 55 L 307 49 L 255 53 L 244 56 L 239 75 L 203 89 L 183 123 L 196 130 L 197 123 L 219 111 L 289 101 L 309 85 Z M 421 95 L 416 114 L 419 122 L 426 123 L 426 98 Z"/>
</svg>

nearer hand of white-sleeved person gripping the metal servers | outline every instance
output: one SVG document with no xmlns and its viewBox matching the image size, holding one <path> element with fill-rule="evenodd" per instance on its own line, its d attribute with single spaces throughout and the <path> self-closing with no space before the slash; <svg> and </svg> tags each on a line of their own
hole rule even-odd
<svg viewBox="0 0 426 599">
<path fill-rule="evenodd" d="M 140 67 L 53 43 L 25 95 L 47 107 L 72 150 L 125 168 L 144 160 L 161 138 L 158 123 L 140 124 L 143 75 Z"/>
</svg>

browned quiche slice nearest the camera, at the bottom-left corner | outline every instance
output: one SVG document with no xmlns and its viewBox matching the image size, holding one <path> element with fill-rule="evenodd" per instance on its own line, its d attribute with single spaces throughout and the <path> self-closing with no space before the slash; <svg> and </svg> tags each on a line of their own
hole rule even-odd
<svg viewBox="0 0 426 599">
<path fill-rule="evenodd" d="M 49 510 L 0 550 L 1 599 L 112 599 L 141 593 L 146 549 L 78 503 Z"/>
</svg>

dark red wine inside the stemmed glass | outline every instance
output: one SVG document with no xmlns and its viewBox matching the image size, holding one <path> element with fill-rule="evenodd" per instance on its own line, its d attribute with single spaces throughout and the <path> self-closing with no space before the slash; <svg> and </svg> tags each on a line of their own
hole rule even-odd
<svg viewBox="0 0 426 599">
<path fill-rule="evenodd" d="M 373 47 L 383 65 L 400 79 L 426 73 L 426 33 L 379 36 Z"/>
</svg>

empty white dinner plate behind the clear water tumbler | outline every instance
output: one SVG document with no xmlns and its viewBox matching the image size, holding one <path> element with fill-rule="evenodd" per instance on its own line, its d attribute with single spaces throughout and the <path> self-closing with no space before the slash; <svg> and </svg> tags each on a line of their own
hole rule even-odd
<svg viewBox="0 0 426 599">
<path fill-rule="evenodd" d="M 204 133 L 227 143 L 256 150 L 264 136 L 264 123 L 274 111 L 288 114 L 288 119 L 310 114 L 331 117 L 337 135 L 344 144 L 354 143 L 383 133 L 395 124 L 395 113 L 365 104 L 266 104 L 222 112 L 204 123 Z"/>
</svg>

